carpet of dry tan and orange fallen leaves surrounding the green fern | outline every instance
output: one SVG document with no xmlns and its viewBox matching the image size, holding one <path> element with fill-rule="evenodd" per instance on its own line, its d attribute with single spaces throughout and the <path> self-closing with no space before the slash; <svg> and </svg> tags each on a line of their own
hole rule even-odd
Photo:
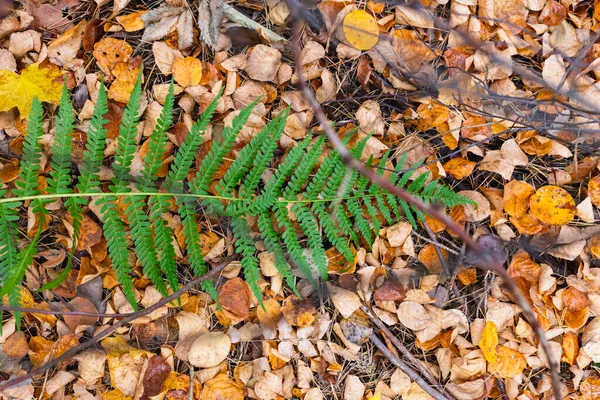
<svg viewBox="0 0 600 400">
<path fill-rule="evenodd" d="M 80 12 L 86 3 L 79 0 L 31 0 L 0 8 L 2 185 L 14 185 L 19 173 L 32 98 L 56 104 L 62 79 L 79 113 L 75 162 L 81 161 L 100 82 L 107 84 L 109 160 L 124 103 L 143 70 L 135 175 L 172 76 L 179 114 L 169 131 L 164 174 L 193 120 L 221 89 L 219 118 L 197 161 L 223 126 L 256 98 L 238 148 L 290 106 L 279 143 L 285 154 L 316 125 L 314 110 L 295 87 L 296 69 L 302 68 L 332 119 L 343 121 L 337 125 L 340 134 L 354 127 L 359 138 L 372 134 L 363 160 L 377 161 L 388 150 L 408 153 L 407 168 L 424 161 L 417 172 L 456 184 L 477 203 L 452 208 L 449 216 L 482 243 L 492 238 L 501 255 L 510 250 L 508 272 L 535 310 L 554 358 L 562 361 L 565 396 L 600 397 L 594 369 L 600 363 L 600 229 L 594 225 L 600 159 L 588 150 L 600 129 L 593 113 L 600 111 L 595 102 L 600 6 L 576 0 L 434 0 L 418 7 L 316 3 L 309 8 L 320 19 L 300 37 L 301 65 L 290 61 L 286 43 L 268 44 L 231 22 L 210 44 L 212 52 L 200 40 L 187 3 L 178 0 L 152 9 L 136 1 L 115 0 L 112 8 L 97 1 L 92 6 L 100 14 L 93 19 Z M 284 36 L 289 33 L 285 1 L 234 5 L 260 15 L 261 23 Z M 433 86 L 434 92 L 424 90 Z M 368 99 L 360 98 L 364 93 Z M 417 95 L 402 107 L 385 100 L 406 93 Z M 50 106 L 46 150 L 53 111 Z M 47 160 L 42 163 L 45 168 Z M 103 180 L 111 177 L 109 165 Z M 78 268 L 59 288 L 32 294 L 60 272 L 72 239 L 67 215 L 53 215 L 52 225 L 47 221 L 46 234 L 62 247 L 36 257 L 22 289 L 23 307 L 109 315 L 133 311 L 111 268 L 97 213 L 90 206 L 84 220 Z M 28 218 L 31 233 L 39 222 Z M 171 214 L 165 218 L 176 235 L 178 262 L 185 266 L 181 222 Z M 549 398 L 547 359 L 511 294 L 468 264 L 469 254 L 462 257 L 442 223 L 427 222 L 439 242 L 399 222 L 382 229 L 372 248 L 359 248 L 351 265 L 329 250 L 333 279 L 325 298 L 302 279 L 303 300 L 290 295 L 272 256 L 257 243 L 264 308 L 233 263 L 221 277 L 221 308 L 204 293 L 185 295 L 0 397 L 429 398 L 374 354 L 368 340 L 373 328 L 360 310 L 369 305 L 455 398 Z M 207 260 L 232 251 L 226 229 L 207 224 L 201 236 Z M 515 252 L 517 247 L 522 249 Z M 456 265 L 454 277 L 443 275 L 443 263 Z M 140 304 L 156 304 L 161 296 L 139 266 L 136 272 Z M 115 322 L 110 316 L 28 313 L 25 329 L 17 332 L 14 319 L 4 316 L 0 382 L 59 357 Z"/>
</svg>

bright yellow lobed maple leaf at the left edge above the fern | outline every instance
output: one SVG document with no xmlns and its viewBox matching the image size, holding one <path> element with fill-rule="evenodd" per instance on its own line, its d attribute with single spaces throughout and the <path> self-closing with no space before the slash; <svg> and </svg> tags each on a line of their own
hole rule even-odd
<svg viewBox="0 0 600 400">
<path fill-rule="evenodd" d="M 0 71 L 0 112 L 13 107 L 19 109 L 22 118 L 29 115 L 34 97 L 46 103 L 58 104 L 62 89 L 58 68 L 31 64 L 18 75 L 12 71 Z"/>
</svg>

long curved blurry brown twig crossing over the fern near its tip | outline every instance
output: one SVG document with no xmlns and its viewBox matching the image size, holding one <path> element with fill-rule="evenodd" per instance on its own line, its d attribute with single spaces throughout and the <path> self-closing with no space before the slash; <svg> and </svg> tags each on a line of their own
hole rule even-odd
<svg viewBox="0 0 600 400">
<path fill-rule="evenodd" d="M 441 209 L 423 202 L 421 199 L 411 195 L 407 191 L 394 185 L 384 176 L 377 174 L 375 171 L 368 168 L 361 161 L 355 159 L 352 156 L 352 154 L 350 154 L 350 152 L 348 151 L 346 145 L 344 145 L 344 143 L 340 140 L 338 135 L 333 131 L 333 129 L 329 125 L 329 122 L 327 121 L 327 117 L 325 116 L 321 105 L 319 104 L 319 102 L 311 92 L 310 88 L 307 86 L 306 81 L 304 80 L 304 71 L 302 69 L 303 66 L 300 58 L 300 25 L 298 22 L 300 15 L 298 10 L 301 6 L 298 4 L 297 0 L 286 0 L 286 4 L 288 5 L 288 8 L 290 9 L 290 13 L 292 15 L 292 20 L 294 24 L 294 35 L 297 36 L 295 40 L 292 40 L 292 48 L 294 50 L 294 60 L 296 64 L 296 73 L 298 74 L 298 83 L 302 92 L 304 93 L 304 97 L 308 100 L 308 103 L 312 107 L 313 112 L 317 117 L 317 120 L 321 123 L 321 126 L 325 130 L 328 139 L 334 145 L 344 164 L 346 164 L 348 168 L 356 170 L 362 176 L 367 178 L 371 183 L 378 185 L 382 189 L 385 189 L 391 194 L 406 201 L 408 204 L 416 207 L 425 214 L 429 214 L 430 216 L 437 218 L 440 222 L 446 224 L 446 227 L 450 231 L 454 232 L 459 238 L 461 238 L 465 243 L 467 243 L 467 246 L 469 246 L 469 248 L 473 249 L 473 251 L 475 251 L 481 257 L 483 265 L 479 265 L 480 268 L 489 269 L 495 272 L 498 276 L 500 276 L 507 290 L 513 294 L 517 305 L 523 310 L 523 314 L 527 318 L 528 322 L 530 323 L 531 327 L 533 328 L 540 340 L 540 344 L 542 345 L 542 348 L 546 353 L 546 359 L 548 360 L 548 364 L 550 365 L 550 375 L 552 378 L 552 391 L 554 397 L 555 399 L 560 399 L 560 378 L 558 376 L 559 364 L 554 358 L 552 348 L 550 347 L 550 342 L 548 341 L 548 338 L 546 337 L 546 334 L 542 329 L 542 326 L 540 325 L 535 312 L 527 302 L 525 296 L 523 296 L 523 294 L 521 293 L 521 290 L 518 288 L 515 281 L 510 277 L 510 275 L 508 275 L 508 273 L 504 269 L 504 266 L 497 260 L 495 260 L 489 252 L 483 250 L 479 246 L 479 244 L 477 244 L 477 242 L 469 234 L 467 234 L 460 225 L 458 225 L 452 218 L 443 213 Z"/>
</svg>

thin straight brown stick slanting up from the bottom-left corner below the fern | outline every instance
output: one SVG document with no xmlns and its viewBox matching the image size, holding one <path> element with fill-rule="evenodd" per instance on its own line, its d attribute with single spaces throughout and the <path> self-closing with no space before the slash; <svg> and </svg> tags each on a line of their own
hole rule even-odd
<svg viewBox="0 0 600 400">
<path fill-rule="evenodd" d="M 143 317 L 144 315 L 148 315 L 151 312 L 153 312 L 154 310 L 157 310 L 160 307 L 164 306 L 165 304 L 170 303 L 170 302 L 176 300 L 178 297 L 180 297 L 182 294 L 184 294 L 185 292 L 187 292 L 188 290 L 190 290 L 194 286 L 196 286 L 196 285 L 204 282 L 207 279 L 213 278 L 214 276 L 216 276 L 217 274 L 219 274 L 226 266 L 228 266 L 235 259 L 237 259 L 237 255 L 233 255 L 231 257 L 226 258 L 225 260 L 223 260 L 222 262 L 220 262 L 219 264 L 217 264 L 216 266 L 214 266 L 213 269 L 211 269 L 209 272 L 207 272 L 206 274 L 202 275 L 198 279 L 194 279 L 193 281 L 191 281 L 187 285 L 183 286 L 181 289 L 179 289 L 178 291 L 176 291 L 172 295 L 161 299 L 159 302 L 151 305 L 148 308 L 144 308 L 143 310 L 139 310 L 139 311 L 137 311 L 135 313 L 131 313 L 128 317 L 123 318 L 122 320 L 120 320 L 116 324 L 112 325 L 110 328 L 107 328 L 107 329 L 103 330 L 102 332 L 100 332 L 98 335 L 92 337 L 87 342 L 82 343 L 79 346 L 73 347 L 72 349 L 70 349 L 70 350 L 66 351 L 65 353 L 63 353 L 60 357 L 55 358 L 52 361 L 49 361 L 47 364 L 44 364 L 41 367 L 34 369 L 33 371 L 29 372 L 28 374 L 23 375 L 23 376 L 19 376 L 19 377 L 15 378 L 15 379 L 12 379 L 12 380 L 9 380 L 7 382 L 4 382 L 4 383 L 0 384 L 0 391 L 6 390 L 8 388 L 11 388 L 11 387 L 13 387 L 15 385 L 18 385 L 19 383 L 25 382 L 28 379 L 32 379 L 33 377 L 46 372 L 50 368 L 52 368 L 55 365 L 59 364 L 61 361 L 69 359 L 69 358 L 77 355 L 77 353 L 79 353 L 80 351 L 85 350 L 85 349 L 87 349 L 89 347 L 92 347 L 94 344 L 98 343 L 100 340 L 102 340 L 105 337 L 109 336 L 111 333 L 113 333 L 114 331 L 116 331 L 120 327 L 124 326 L 128 322 L 131 322 L 131 321 L 133 321 L 135 319 L 138 319 L 139 317 Z"/>
</svg>

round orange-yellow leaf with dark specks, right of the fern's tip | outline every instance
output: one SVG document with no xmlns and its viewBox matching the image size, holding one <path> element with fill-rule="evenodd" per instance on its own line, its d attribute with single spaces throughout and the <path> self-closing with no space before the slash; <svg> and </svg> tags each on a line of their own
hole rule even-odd
<svg viewBox="0 0 600 400">
<path fill-rule="evenodd" d="M 531 196 L 529 207 L 531 214 L 547 225 L 566 225 L 577 211 L 573 197 L 566 190 L 550 185 Z"/>
</svg>

